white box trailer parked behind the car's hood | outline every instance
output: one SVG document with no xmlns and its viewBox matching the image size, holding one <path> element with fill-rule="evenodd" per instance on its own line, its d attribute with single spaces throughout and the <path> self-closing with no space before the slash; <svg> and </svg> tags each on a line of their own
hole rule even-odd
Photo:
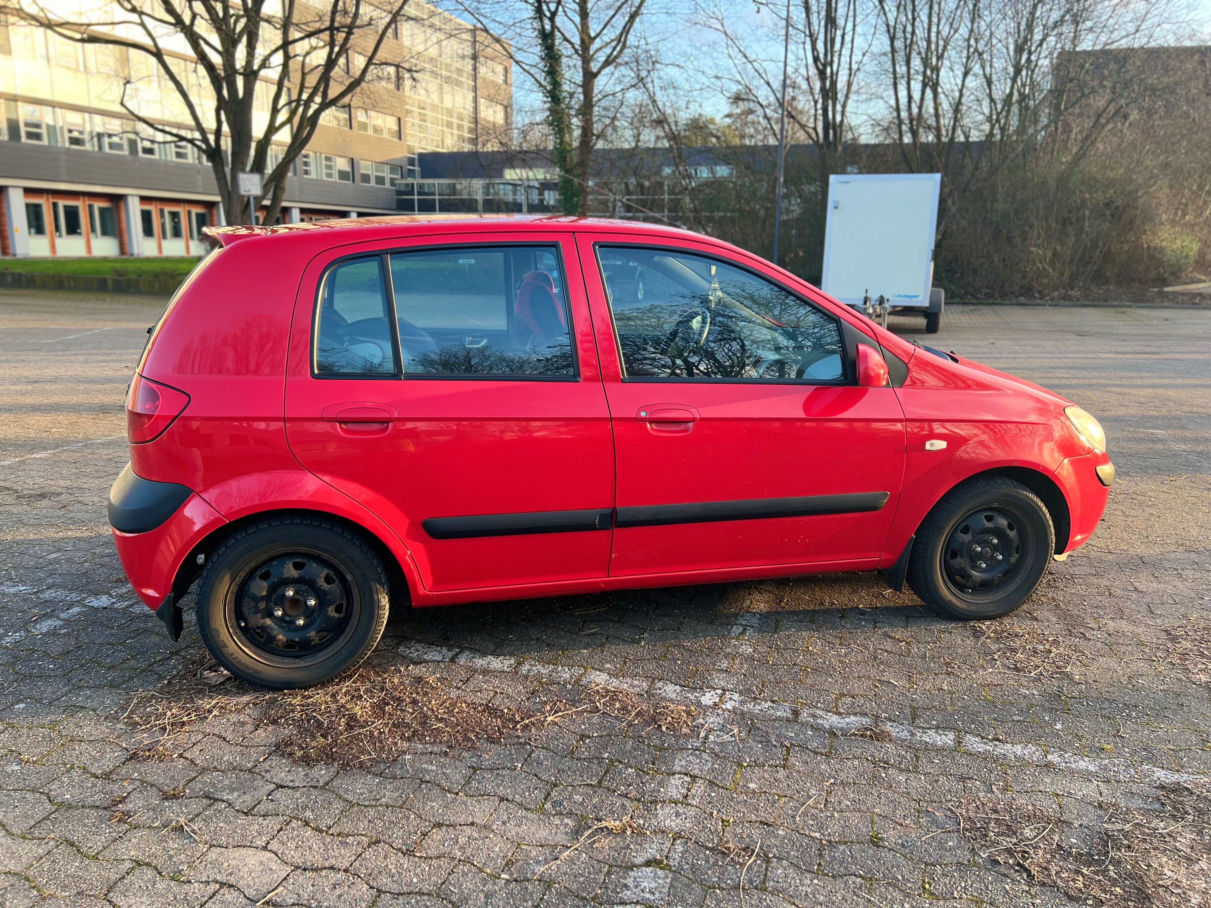
<svg viewBox="0 0 1211 908">
<path fill-rule="evenodd" d="M 886 324 L 889 311 L 925 316 L 935 333 L 945 294 L 932 287 L 940 173 L 836 173 L 820 288 Z"/>
</svg>

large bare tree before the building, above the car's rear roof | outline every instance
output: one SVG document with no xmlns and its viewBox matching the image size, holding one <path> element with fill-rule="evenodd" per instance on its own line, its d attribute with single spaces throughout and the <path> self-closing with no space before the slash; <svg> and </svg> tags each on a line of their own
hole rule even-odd
<svg viewBox="0 0 1211 908">
<path fill-rule="evenodd" d="M 381 77 L 383 45 L 406 5 L 110 0 L 103 8 L 113 15 L 101 18 L 96 4 L 68 10 L 44 0 L 0 0 L 4 12 L 62 38 L 151 61 L 193 128 L 153 121 L 140 110 L 131 97 L 137 80 L 130 67 L 122 107 L 144 127 L 197 149 L 233 224 L 251 223 L 262 205 L 265 222 L 276 220 L 291 165 L 321 120 L 348 105 L 367 81 Z M 264 195 L 252 206 L 239 191 L 241 171 L 265 174 Z"/>
</svg>

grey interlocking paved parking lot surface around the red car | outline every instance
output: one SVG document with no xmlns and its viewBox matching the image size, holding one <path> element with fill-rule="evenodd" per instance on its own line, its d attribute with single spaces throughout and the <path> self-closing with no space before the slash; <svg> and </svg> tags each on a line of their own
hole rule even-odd
<svg viewBox="0 0 1211 908">
<path fill-rule="evenodd" d="M 1209 310 L 894 322 L 1106 425 L 1107 518 L 1011 619 L 943 620 L 873 575 L 417 610 L 379 665 L 501 705 L 630 689 L 695 726 L 569 720 L 366 770 L 293 765 L 240 716 L 171 759 L 130 752 L 132 693 L 201 648 L 188 611 L 168 643 L 105 524 L 157 312 L 0 291 L 4 906 L 1068 904 L 982 858 L 953 805 L 1009 794 L 1096 828 L 1211 770 L 1209 690 L 1171 661 L 1211 597 Z M 601 832 L 626 817 L 642 832 Z"/>
</svg>

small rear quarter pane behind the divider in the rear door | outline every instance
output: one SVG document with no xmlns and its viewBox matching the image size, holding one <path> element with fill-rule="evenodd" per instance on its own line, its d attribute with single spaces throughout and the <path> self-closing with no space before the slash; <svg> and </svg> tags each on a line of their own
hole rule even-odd
<svg viewBox="0 0 1211 908">
<path fill-rule="evenodd" d="M 320 292 L 315 370 L 327 375 L 394 375 L 395 355 L 383 262 L 344 262 Z"/>
</svg>

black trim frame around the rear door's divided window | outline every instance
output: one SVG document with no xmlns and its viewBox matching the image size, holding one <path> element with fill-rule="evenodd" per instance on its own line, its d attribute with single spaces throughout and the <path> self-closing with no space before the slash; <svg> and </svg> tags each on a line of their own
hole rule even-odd
<svg viewBox="0 0 1211 908">
<path fill-rule="evenodd" d="M 527 248 L 534 246 L 547 246 L 555 249 L 559 263 L 559 274 L 563 278 L 563 308 L 568 318 L 568 341 L 572 349 L 572 374 L 570 375 L 463 375 L 452 373 L 434 372 L 403 372 L 403 345 L 400 343 L 400 316 L 395 309 L 395 278 L 391 274 L 391 255 L 408 252 L 441 252 L 447 249 L 499 249 L 499 248 Z M 320 350 L 320 311 L 323 308 L 323 288 L 328 281 L 328 275 L 340 265 L 352 259 L 379 259 L 379 272 L 386 271 L 384 291 L 388 298 L 388 315 L 391 320 L 391 344 L 392 360 L 395 361 L 395 373 L 361 372 L 317 372 L 317 355 Z M 311 355 L 309 372 L 311 378 L 320 380 L 337 379 L 339 381 L 564 381 L 576 383 L 580 377 L 580 351 L 576 346 L 576 333 L 572 320 L 572 300 L 568 292 L 568 268 L 563 255 L 563 243 L 559 240 L 505 240 L 503 242 L 471 242 L 471 243 L 434 243 L 419 246 L 402 246 L 389 249 L 367 249 L 363 252 L 351 252 L 334 258 L 323 266 L 320 280 L 316 282 L 315 299 L 311 308 L 311 329 L 309 332 L 311 343 Z M 596 343 L 596 341 L 595 341 Z"/>
</svg>

